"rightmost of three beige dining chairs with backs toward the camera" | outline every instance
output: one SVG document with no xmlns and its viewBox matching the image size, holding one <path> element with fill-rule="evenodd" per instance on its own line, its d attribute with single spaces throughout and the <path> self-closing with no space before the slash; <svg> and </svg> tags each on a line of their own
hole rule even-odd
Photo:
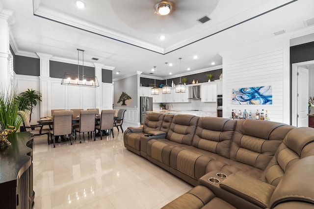
<svg viewBox="0 0 314 209">
<path fill-rule="evenodd" d="M 100 132 L 100 139 L 103 140 L 103 134 L 102 131 L 108 130 L 108 133 L 110 134 L 110 131 L 113 136 L 113 117 L 114 117 L 114 110 L 102 110 L 101 118 L 100 118 L 100 125 L 96 126 L 96 129 Z"/>
</svg>

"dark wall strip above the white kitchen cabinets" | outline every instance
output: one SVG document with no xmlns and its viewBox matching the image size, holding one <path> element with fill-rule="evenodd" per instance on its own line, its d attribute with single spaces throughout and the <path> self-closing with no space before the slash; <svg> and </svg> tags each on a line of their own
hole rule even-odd
<svg viewBox="0 0 314 209">
<path fill-rule="evenodd" d="M 182 82 L 182 78 L 186 77 L 187 78 L 187 82 L 185 83 L 187 84 L 192 84 L 193 79 L 195 80 L 195 82 L 198 80 L 199 83 L 205 83 L 208 82 L 208 77 L 206 76 L 206 74 L 212 74 L 212 78 L 211 81 L 217 80 L 219 79 L 220 74 L 222 73 L 222 69 L 218 69 L 218 70 L 211 70 L 211 71 L 207 71 L 207 72 L 201 72 L 201 73 L 197 73 L 197 74 L 192 74 L 192 75 L 186 75 L 186 76 L 182 76 L 181 77 L 181 82 Z M 167 79 L 167 84 L 169 86 L 171 86 L 172 81 L 177 84 L 180 82 L 180 77 L 177 78 L 171 78 L 171 79 Z M 149 86 L 149 84 L 153 84 L 154 83 L 154 79 L 151 78 L 140 78 L 140 83 L 142 84 L 142 86 Z M 160 84 L 166 84 L 166 80 L 156 80 L 156 86 L 159 87 Z"/>
</svg>

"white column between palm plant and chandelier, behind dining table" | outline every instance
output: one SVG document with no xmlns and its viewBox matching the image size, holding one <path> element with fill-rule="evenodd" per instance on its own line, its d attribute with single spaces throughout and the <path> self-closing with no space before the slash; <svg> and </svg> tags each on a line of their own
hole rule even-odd
<svg viewBox="0 0 314 209">
<path fill-rule="evenodd" d="M 40 61 L 40 93 L 42 101 L 40 102 L 40 116 L 51 115 L 51 82 L 50 82 L 50 65 L 49 61 L 52 58 L 51 54 L 36 52 Z"/>
</svg>

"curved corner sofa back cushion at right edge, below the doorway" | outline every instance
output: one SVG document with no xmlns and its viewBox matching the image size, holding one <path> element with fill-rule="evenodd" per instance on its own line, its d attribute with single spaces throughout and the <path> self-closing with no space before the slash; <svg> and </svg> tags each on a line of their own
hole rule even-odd
<svg viewBox="0 0 314 209">
<path fill-rule="evenodd" d="M 301 127 L 291 130 L 264 170 L 266 181 L 277 186 L 292 164 L 308 156 L 314 156 L 314 129 Z"/>
</svg>

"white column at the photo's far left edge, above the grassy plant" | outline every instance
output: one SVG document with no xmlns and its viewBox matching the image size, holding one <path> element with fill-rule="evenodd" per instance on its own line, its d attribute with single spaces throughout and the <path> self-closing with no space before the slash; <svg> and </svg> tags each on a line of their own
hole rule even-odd
<svg viewBox="0 0 314 209">
<path fill-rule="evenodd" d="M 10 84 L 10 38 L 9 25 L 15 23 L 14 13 L 7 9 L 0 12 L 0 84 Z"/>
</svg>

